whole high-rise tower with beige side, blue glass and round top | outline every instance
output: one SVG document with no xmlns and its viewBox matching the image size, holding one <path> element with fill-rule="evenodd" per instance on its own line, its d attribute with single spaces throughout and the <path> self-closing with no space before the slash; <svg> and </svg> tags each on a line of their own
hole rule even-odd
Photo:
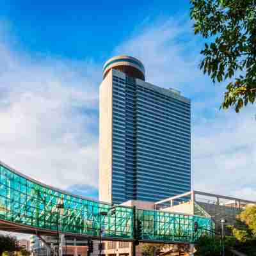
<svg viewBox="0 0 256 256">
<path fill-rule="evenodd" d="M 136 58 L 108 60 L 100 84 L 100 200 L 157 201 L 191 190 L 190 100 L 145 82 Z"/>
</svg>

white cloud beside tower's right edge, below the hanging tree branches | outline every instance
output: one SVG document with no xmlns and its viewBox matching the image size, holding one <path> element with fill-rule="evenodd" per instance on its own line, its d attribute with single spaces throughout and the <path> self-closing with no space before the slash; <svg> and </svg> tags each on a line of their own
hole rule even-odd
<svg viewBox="0 0 256 256">
<path fill-rule="evenodd" d="M 195 124 L 196 189 L 256 200 L 255 131 L 256 121 L 250 108 L 239 114 L 216 113 Z"/>
</svg>

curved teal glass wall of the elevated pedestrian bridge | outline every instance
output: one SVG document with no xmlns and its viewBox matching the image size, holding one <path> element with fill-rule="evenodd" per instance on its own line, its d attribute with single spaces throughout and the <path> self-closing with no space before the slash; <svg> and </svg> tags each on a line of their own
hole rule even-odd
<svg viewBox="0 0 256 256">
<path fill-rule="evenodd" d="M 141 241 L 193 243 L 201 234 L 193 232 L 195 221 L 200 227 L 212 228 L 211 220 L 200 216 L 143 209 L 134 214 L 132 207 L 124 205 L 117 205 L 113 213 L 110 208 L 36 182 L 0 162 L 0 229 L 14 225 L 16 232 L 26 228 L 31 234 L 60 231 L 97 239 L 102 228 L 103 239 L 132 241 L 136 236 L 133 223 L 140 220 Z"/>
</svg>

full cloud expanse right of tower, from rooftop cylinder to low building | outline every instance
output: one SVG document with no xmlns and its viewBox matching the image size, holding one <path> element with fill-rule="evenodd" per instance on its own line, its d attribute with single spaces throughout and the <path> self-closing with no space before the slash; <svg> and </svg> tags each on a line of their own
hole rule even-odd
<svg viewBox="0 0 256 256">
<path fill-rule="evenodd" d="M 213 86 L 198 69 L 201 47 L 188 20 L 168 19 L 138 29 L 115 54 L 139 58 L 147 81 L 192 99 L 195 189 L 256 201 L 255 109 L 220 111 L 225 84 Z"/>
</svg>

